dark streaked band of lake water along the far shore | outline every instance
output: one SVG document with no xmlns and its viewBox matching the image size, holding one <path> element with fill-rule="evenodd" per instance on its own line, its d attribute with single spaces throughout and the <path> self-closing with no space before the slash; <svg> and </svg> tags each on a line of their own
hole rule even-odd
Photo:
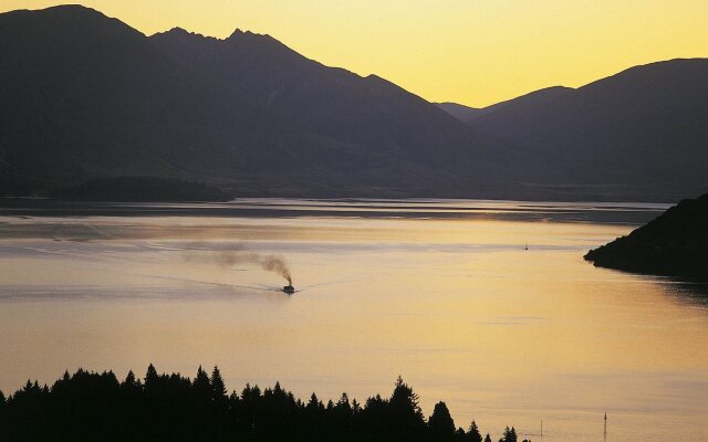
<svg viewBox="0 0 708 442">
<path fill-rule="evenodd" d="M 659 203 L 533 202 L 456 199 L 241 198 L 226 202 L 63 201 L 0 198 L 0 217 L 381 218 L 593 222 L 641 225 Z"/>
</svg>

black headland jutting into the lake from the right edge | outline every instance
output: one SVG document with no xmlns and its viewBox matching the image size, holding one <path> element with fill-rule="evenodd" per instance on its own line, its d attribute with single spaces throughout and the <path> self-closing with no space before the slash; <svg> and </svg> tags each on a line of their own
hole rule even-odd
<svg viewBox="0 0 708 442">
<path fill-rule="evenodd" d="M 684 200 L 627 236 L 590 251 L 601 267 L 708 281 L 708 193 Z"/>
</svg>

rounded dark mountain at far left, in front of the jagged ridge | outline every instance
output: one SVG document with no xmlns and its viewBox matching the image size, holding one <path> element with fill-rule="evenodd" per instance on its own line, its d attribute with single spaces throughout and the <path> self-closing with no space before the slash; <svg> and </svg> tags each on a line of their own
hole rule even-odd
<svg viewBox="0 0 708 442">
<path fill-rule="evenodd" d="M 352 164 L 375 161 L 249 104 L 91 9 L 0 14 L 0 165 L 20 180 L 258 183 L 293 170 L 341 177 Z"/>
</svg>

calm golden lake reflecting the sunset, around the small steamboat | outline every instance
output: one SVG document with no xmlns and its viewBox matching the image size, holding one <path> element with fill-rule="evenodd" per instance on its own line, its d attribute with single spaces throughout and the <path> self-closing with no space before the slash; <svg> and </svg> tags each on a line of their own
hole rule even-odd
<svg viewBox="0 0 708 442">
<path fill-rule="evenodd" d="M 444 400 L 497 440 L 708 439 L 708 288 L 585 252 L 667 206 L 0 204 L 0 389 L 65 369 Z M 298 293 L 263 270 L 281 256 Z"/>
</svg>

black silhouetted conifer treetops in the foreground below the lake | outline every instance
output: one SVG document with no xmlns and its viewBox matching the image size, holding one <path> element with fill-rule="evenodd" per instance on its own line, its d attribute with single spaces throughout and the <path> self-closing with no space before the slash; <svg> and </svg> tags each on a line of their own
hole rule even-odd
<svg viewBox="0 0 708 442">
<path fill-rule="evenodd" d="M 79 369 L 51 387 L 28 380 L 7 399 L 0 392 L 0 440 L 11 441 L 491 442 L 475 421 L 466 427 L 455 427 L 445 402 L 426 420 L 400 377 L 391 397 L 364 403 L 346 393 L 326 404 L 315 393 L 302 401 L 280 383 L 229 394 L 217 367 L 190 379 L 153 365 L 144 380 Z M 518 442 L 516 430 L 503 429 L 499 441 Z"/>
</svg>

